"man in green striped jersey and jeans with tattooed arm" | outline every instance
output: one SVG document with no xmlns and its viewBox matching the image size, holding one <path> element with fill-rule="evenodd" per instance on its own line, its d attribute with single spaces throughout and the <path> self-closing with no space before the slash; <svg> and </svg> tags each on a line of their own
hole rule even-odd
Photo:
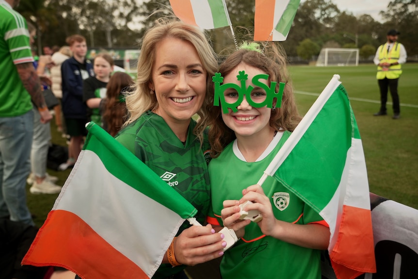
<svg viewBox="0 0 418 279">
<path fill-rule="evenodd" d="M 18 0 L 0 0 L 0 218 L 33 225 L 26 205 L 30 172 L 32 103 L 41 122 L 52 116 L 33 67 L 26 20 L 13 10 Z"/>
</svg>

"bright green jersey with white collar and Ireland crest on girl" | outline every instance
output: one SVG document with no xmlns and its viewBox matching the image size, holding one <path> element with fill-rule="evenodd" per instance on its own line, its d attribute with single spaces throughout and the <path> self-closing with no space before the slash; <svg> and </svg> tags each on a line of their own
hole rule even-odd
<svg viewBox="0 0 418 279">
<path fill-rule="evenodd" d="M 238 200 L 242 197 L 244 188 L 257 184 L 289 135 L 288 131 L 278 132 L 267 148 L 269 149 L 267 153 L 265 152 L 257 162 L 245 162 L 236 141 L 229 144 L 218 158 L 212 159 L 209 164 L 212 185 L 212 212 L 209 213 L 209 217 L 216 218 L 219 224 L 222 224 L 220 216 L 223 201 Z M 322 224 L 322 217 L 279 181 L 269 176 L 262 187 L 266 196 L 270 197 L 276 219 L 295 224 L 313 222 Z M 210 219 L 212 218 L 208 218 Z M 319 279 L 321 278 L 320 253 L 320 250 L 265 236 L 257 223 L 251 222 L 245 227 L 244 236 L 225 251 L 220 267 L 221 275 L 223 279 Z"/>
</svg>

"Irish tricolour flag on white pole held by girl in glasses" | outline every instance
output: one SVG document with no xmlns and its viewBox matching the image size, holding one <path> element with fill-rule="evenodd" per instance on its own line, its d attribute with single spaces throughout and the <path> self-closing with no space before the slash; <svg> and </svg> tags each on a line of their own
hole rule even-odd
<svg viewBox="0 0 418 279">
<path fill-rule="evenodd" d="M 273 176 L 321 214 L 339 279 L 376 272 L 369 184 L 360 134 L 335 75 L 258 182 Z M 267 186 L 266 186 L 267 187 Z"/>
</svg>

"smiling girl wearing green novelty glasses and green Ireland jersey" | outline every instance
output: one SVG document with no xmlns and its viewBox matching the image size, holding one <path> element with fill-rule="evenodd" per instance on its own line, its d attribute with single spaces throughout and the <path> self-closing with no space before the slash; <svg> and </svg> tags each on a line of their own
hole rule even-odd
<svg viewBox="0 0 418 279">
<path fill-rule="evenodd" d="M 320 250 L 329 242 L 327 224 L 272 177 L 262 188 L 256 184 L 301 119 L 286 58 L 274 45 L 261 52 L 252 43 L 230 55 L 219 72 L 224 85 L 216 86 L 216 79 L 222 79 L 215 74 L 214 98 L 216 104 L 220 97 L 221 106 L 209 114 L 215 158 L 209 164 L 213 215 L 208 220 L 223 222 L 241 237 L 225 251 L 222 278 L 319 279 Z M 277 92 L 283 92 L 281 99 Z M 239 205 L 246 201 L 253 204 L 245 211 L 260 212 L 258 223 L 239 219 Z"/>
</svg>

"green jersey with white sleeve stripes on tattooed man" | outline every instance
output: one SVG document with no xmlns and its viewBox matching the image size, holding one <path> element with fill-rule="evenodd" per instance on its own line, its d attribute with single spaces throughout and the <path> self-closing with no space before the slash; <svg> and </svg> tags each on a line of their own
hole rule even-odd
<svg viewBox="0 0 418 279">
<path fill-rule="evenodd" d="M 33 62 L 26 20 L 6 2 L 0 3 L 0 117 L 23 115 L 32 109 L 16 64 Z"/>
</svg>

